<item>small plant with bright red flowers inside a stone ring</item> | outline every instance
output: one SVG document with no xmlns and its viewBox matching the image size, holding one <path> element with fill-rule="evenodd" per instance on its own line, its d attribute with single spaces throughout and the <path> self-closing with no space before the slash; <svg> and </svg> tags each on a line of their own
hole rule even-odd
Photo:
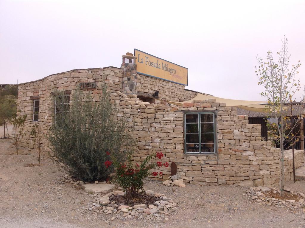
<svg viewBox="0 0 305 228">
<path fill-rule="evenodd" d="M 108 154 L 107 154 L 108 155 Z M 131 161 L 132 152 L 127 152 L 127 160 L 123 164 L 118 161 L 114 155 L 109 154 L 109 160 L 105 162 L 105 167 L 114 166 L 115 175 L 114 181 L 119 184 L 125 191 L 127 198 L 138 197 L 139 193 L 143 191 L 143 179 L 149 175 L 162 177 L 162 172 L 151 172 L 151 169 L 165 166 L 168 167 L 168 162 L 162 161 L 151 162 L 152 159 L 162 159 L 164 156 L 162 152 L 156 152 L 145 157 L 144 161 L 139 165 L 133 165 Z"/>
</svg>

